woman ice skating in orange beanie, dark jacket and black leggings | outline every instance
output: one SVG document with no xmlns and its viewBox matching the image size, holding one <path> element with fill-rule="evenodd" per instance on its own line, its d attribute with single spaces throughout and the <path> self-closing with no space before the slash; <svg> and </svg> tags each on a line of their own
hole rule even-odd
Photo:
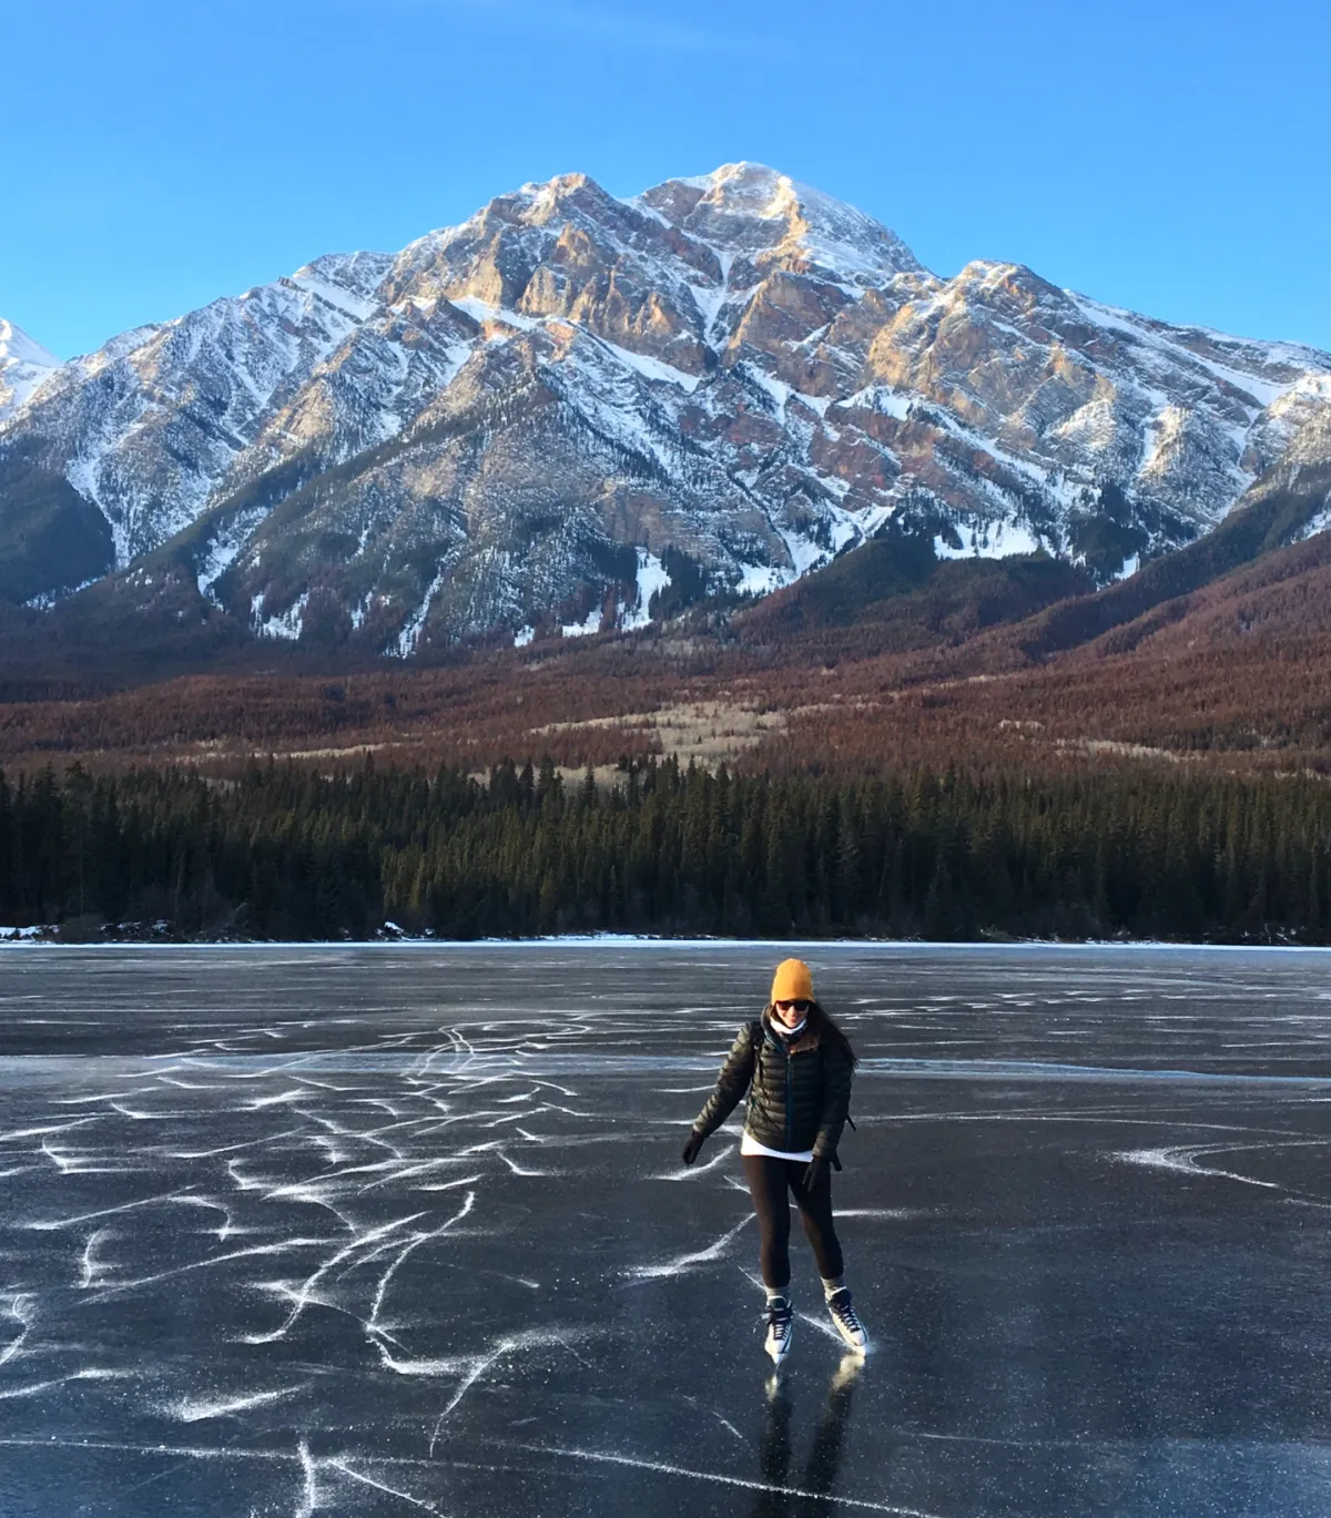
<svg viewBox="0 0 1331 1518">
<path fill-rule="evenodd" d="M 707 1135 L 748 1091 L 741 1163 L 762 1234 L 766 1287 L 766 1353 L 780 1365 L 791 1348 L 791 1202 L 818 1274 L 836 1331 L 864 1351 L 865 1331 L 845 1286 L 841 1245 L 832 1224 L 832 1170 L 841 1169 L 836 1145 L 850 1107 L 856 1058 L 845 1034 L 813 999 L 813 976 L 803 959 L 785 959 L 772 978 L 771 999 L 747 1023 L 725 1057 L 716 1090 L 707 1098 L 684 1145 L 684 1164 L 698 1158 Z"/>
</svg>

